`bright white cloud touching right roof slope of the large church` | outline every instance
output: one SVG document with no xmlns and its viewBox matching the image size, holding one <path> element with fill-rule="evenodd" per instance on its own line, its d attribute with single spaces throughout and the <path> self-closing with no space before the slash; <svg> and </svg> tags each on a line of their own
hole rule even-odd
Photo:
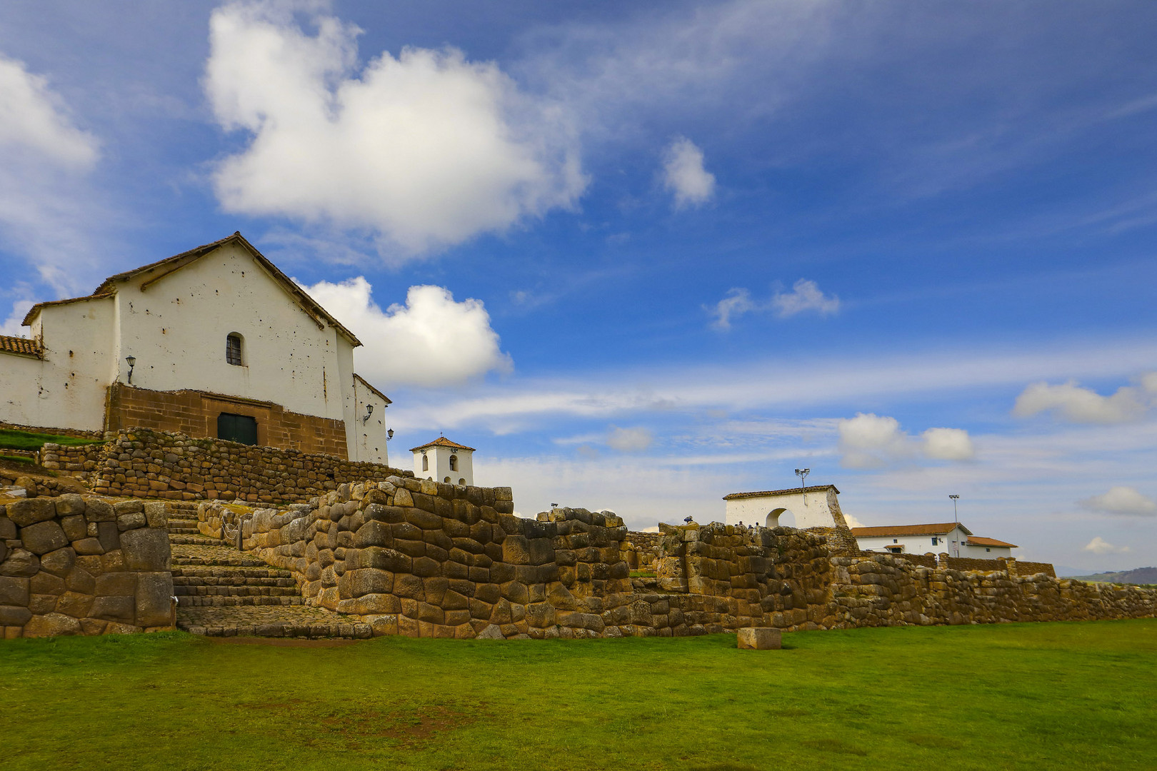
<svg viewBox="0 0 1157 771">
<path fill-rule="evenodd" d="M 411 287 L 405 305 L 383 311 L 362 276 L 304 289 L 362 341 L 355 369 L 378 387 L 455 385 L 513 368 L 481 301 L 458 303 L 442 287 Z"/>
</svg>

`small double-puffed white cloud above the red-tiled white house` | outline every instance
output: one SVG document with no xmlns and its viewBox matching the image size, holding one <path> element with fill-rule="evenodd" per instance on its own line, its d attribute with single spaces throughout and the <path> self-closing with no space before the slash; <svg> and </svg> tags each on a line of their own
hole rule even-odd
<svg viewBox="0 0 1157 771">
<path fill-rule="evenodd" d="M 880 468 L 918 452 L 934 460 L 971 460 L 977 454 L 964 429 L 928 429 L 916 442 L 894 417 L 872 413 L 856 413 L 837 428 L 845 468 Z"/>
</svg>

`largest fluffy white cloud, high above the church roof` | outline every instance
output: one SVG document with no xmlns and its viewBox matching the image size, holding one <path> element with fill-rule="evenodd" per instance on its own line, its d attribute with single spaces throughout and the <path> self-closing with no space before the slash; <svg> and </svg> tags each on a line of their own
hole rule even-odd
<svg viewBox="0 0 1157 771">
<path fill-rule="evenodd" d="M 366 229 L 410 254 L 574 205 L 585 187 L 563 112 L 493 62 L 403 49 L 358 69 L 356 36 L 315 2 L 213 12 L 205 89 L 252 134 L 215 175 L 226 210 Z M 384 246 L 384 244 L 383 244 Z"/>
</svg>

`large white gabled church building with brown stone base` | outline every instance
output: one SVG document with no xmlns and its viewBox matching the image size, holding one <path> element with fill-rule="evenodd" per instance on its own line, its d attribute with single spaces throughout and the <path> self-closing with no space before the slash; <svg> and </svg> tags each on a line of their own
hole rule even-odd
<svg viewBox="0 0 1157 771">
<path fill-rule="evenodd" d="M 390 400 L 361 344 L 234 233 L 39 303 L 0 338 L 0 421 L 154 428 L 386 462 Z"/>
</svg>

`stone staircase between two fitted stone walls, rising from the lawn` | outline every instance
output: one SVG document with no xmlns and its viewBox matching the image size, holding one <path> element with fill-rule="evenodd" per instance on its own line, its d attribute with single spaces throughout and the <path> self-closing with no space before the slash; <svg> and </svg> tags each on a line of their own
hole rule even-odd
<svg viewBox="0 0 1157 771">
<path fill-rule="evenodd" d="M 288 570 L 200 535 L 196 504 L 169 505 L 177 628 L 209 637 L 371 637 L 369 624 L 305 605 Z"/>
</svg>

